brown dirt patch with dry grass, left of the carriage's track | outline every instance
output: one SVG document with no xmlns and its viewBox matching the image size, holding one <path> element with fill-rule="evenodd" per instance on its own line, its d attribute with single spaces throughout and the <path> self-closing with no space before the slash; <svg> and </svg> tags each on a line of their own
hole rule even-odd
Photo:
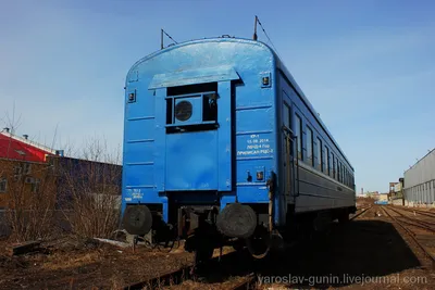
<svg viewBox="0 0 435 290">
<path fill-rule="evenodd" d="M 145 247 L 122 249 L 72 239 L 42 244 L 34 254 L 10 256 L 1 242 L 0 289 L 117 289 L 190 264 L 183 251 L 159 252 Z"/>
</svg>

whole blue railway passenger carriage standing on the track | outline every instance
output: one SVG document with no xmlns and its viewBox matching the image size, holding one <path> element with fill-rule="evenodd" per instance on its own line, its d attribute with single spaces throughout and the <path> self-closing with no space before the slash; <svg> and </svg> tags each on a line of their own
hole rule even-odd
<svg viewBox="0 0 435 290">
<path fill-rule="evenodd" d="M 197 262 L 264 256 L 271 237 L 356 211 L 353 168 L 266 45 L 217 37 L 157 51 L 125 86 L 123 227 Z"/>
</svg>

